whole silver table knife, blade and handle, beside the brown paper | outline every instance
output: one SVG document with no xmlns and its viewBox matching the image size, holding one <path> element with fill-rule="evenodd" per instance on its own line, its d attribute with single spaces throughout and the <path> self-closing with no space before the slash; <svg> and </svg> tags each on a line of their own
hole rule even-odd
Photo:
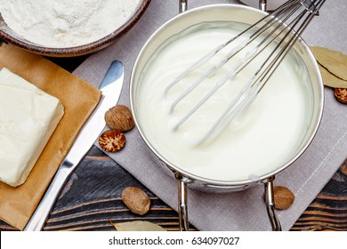
<svg viewBox="0 0 347 249">
<path fill-rule="evenodd" d="M 55 173 L 50 186 L 44 193 L 44 197 L 42 197 L 23 230 L 39 231 L 44 227 L 44 223 L 57 197 L 59 197 L 62 187 L 105 127 L 105 112 L 117 104 L 123 81 L 124 66 L 119 60 L 114 60 L 110 64 L 99 87 L 102 92 L 99 105 L 94 109 L 92 116 L 89 117 L 81 132 L 77 135 L 76 141 L 60 165 L 57 173 Z"/>
</svg>

